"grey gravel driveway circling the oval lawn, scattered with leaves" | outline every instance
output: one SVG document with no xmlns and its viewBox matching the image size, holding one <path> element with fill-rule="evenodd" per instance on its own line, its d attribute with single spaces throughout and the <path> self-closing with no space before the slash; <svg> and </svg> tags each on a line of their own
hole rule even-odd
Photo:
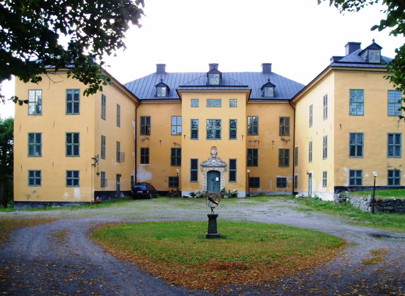
<svg viewBox="0 0 405 296">
<path fill-rule="evenodd" d="M 375 239 L 370 233 L 392 234 L 346 224 L 319 212 L 300 212 L 294 201 L 270 199 L 222 200 L 220 221 L 259 221 L 311 228 L 345 239 L 348 247 L 336 260 L 297 276 L 258 287 L 227 287 L 219 292 L 188 291 L 164 283 L 130 263 L 103 253 L 90 241 L 100 223 L 119 221 L 206 221 L 204 200 L 128 200 L 100 209 L 19 211 L 2 217 L 58 217 L 50 224 L 16 230 L 0 249 L 0 267 L 8 274 L 0 281 L 2 295 L 405 295 L 405 241 Z M 60 233 L 66 235 L 58 236 Z M 404 236 L 404 235 L 403 235 Z M 375 265 L 364 265 L 371 250 L 388 254 Z"/>
</svg>

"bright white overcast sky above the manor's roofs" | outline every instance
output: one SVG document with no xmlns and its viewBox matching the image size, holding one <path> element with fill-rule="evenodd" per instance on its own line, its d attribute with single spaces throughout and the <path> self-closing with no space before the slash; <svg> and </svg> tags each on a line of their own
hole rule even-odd
<svg viewBox="0 0 405 296">
<path fill-rule="evenodd" d="M 348 41 L 364 48 L 375 38 L 382 55 L 394 57 L 405 38 L 370 31 L 384 17 L 382 8 L 343 15 L 317 0 L 145 0 L 143 27 L 128 30 L 126 51 L 104 61 L 121 83 L 155 72 L 159 63 L 167 72 L 205 72 L 215 62 L 222 72 L 259 72 L 262 63 L 273 63 L 273 72 L 307 84 L 332 55 L 345 55 Z M 4 94 L 14 94 L 14 81 L 2 85 Z M 14 116 L 14 104 L 0 104 L 0 116 Z"/>
</svg>

